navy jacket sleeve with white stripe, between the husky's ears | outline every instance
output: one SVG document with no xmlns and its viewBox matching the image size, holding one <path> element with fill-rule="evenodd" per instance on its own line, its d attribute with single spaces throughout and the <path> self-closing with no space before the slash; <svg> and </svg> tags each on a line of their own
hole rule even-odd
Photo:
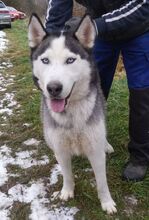
<svg viewBox="0 0 149 220">
<path fill-rule="evenodd" d="M 49 0 L 45 27 L 47 32 L 62 30 L 72 17 L 73 0 Z"/>
</svg>

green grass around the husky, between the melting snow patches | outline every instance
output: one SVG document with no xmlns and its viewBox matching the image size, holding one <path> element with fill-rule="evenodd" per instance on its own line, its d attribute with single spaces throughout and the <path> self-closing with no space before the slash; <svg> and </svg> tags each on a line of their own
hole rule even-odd
<svg viewBox="0 0 149 220">
<path fill-rule="evenodd" d="M 16 99 L 21 105 L 21 110 L 16 110 L 15 116 L 9 118 L 9 124 L 5 128 L 0 125 L 0 129 L 7 133 L 5 138 L 0 140 L 0 144 L 10 143 L 13 152 L 16 152 L 20 148 L 25 150 L 22 142 L 34 137 L 42 140 L 38 147 L 38 157 L 46 154 L 50 159 L 49 165 L 29 168 L 26 172 L 17 166 L 10 165 L 9 170 L 19 173 L 20 176 L 10 179 L 8 187 L 8 185 L 14 185 L 15 182 L 27 183 L 31 180 L 48 177 L 51 167 L 55 164 L 55 158 L 43 140 L 39 119 L 40 94 L 33 85 L 29 61 L 27 22 L 17 21 L 13 24 L 12 29 L 6 32 L 10 42 L 9 48 L 5 52 L 5 56 L 0 55 L 0 59 L 10 60 L 13 64 L 13 68 L 8 69 L 7 73 L 15 74 L 16 83 L 11 85 L 9 90 L 16 91 Z M 24 123 L 30 123 L 31 126 L 26 128 L 22 126 Z M 86 159 L 80 157 L 73 160 L 73 170 L 77 176 L 75 199 L 66 204 L 80 209 L 75 216 L 76 220 L 148 220 L 149 176 L 139 183 L 128 183 L 121 180 L 121 172 L 128 159 L 128 90 L 125 76 L 116 77 L 114 80 L 107 106 L 107 129 L 108 140 L 115 149 L 115 153 L 108 157 L 107 176 L 110 191 L 117 203 L 118 213 L 108 216 L 102 212 L 96 188 L 90 184 L 91 180 L 94 183 L 94 175 L 92 172 L 83 171 L 90 165 Z M 58 191 L 61 185 L 62 178 L 51 190 Z M 7 191 L 7 187 L 3 187 L 3 191 Z M 132 195 L 138 200 L 137 205 L 128 201 L 127 197 Z M 11 211 L 11 219 L 27 219 L 29 212 L 28 205 L 16 203 Z"/>
</svg>

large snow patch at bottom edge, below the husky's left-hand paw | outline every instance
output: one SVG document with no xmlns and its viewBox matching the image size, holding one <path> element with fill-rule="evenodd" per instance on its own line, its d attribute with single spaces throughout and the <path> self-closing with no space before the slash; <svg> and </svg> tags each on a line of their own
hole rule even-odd
<svg viewBox="0 0 149 220">
<path fill-rule="evenodd" d="M 42 181 L 34 182 L 29 187 L 18 184 L 9 189 L 8 195 L 11 201 L 31 203 L 30 220 L 73 220 L 79 211 L 76 207 L 52 206 L 46 198 L 46 188 Z"/>
</svg>

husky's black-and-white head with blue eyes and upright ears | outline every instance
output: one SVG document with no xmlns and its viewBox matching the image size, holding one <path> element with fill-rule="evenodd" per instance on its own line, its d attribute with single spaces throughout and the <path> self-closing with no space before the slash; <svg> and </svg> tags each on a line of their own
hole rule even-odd
<svg viewBox="0 0 149 220">
<path fill-rule="evenodd" d="M 81 20 L 75 33 L 63 34 L 48 34 L 38 16 L 31 16 L 28 39 L 33 78 L 52 111 L 63 112 L 70 101 L 87 96 L 95 37 L 89 15 Z"/>
</svg>

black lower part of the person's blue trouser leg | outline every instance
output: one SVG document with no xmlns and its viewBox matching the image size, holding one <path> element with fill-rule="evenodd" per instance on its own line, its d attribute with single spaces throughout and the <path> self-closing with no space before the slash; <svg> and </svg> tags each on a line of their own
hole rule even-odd
<svg viewBox="0 0 149 220">
<path fill-rule="evenodd" d="M 149 89 L 130 89 L 128 149 L 132 161 L 149 163 Z"/>
</svg>

